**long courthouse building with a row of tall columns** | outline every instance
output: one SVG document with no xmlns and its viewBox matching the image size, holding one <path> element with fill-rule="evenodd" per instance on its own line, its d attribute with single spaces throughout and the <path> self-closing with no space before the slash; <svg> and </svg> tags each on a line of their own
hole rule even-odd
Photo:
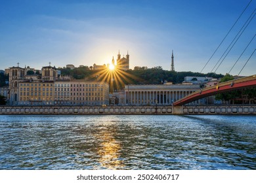
<svg viewBox="0 0 256 183">
<path fill-rule="evenodd" d="M 126 105 L 172 105 L 196 90 L 200 85 L 125 85 L 124 101 Z"/>
</svg>

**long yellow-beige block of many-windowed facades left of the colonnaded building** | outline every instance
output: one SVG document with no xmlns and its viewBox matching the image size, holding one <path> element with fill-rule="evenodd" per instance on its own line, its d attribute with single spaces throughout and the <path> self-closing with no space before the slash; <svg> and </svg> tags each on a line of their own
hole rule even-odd
<svg viewBox="0 0 256 183">
<path fill-rule="evenodd" d="M 106 82 L 83 80 L 23 81 L 18 105 L 108 105 Z"/>
</svg>

